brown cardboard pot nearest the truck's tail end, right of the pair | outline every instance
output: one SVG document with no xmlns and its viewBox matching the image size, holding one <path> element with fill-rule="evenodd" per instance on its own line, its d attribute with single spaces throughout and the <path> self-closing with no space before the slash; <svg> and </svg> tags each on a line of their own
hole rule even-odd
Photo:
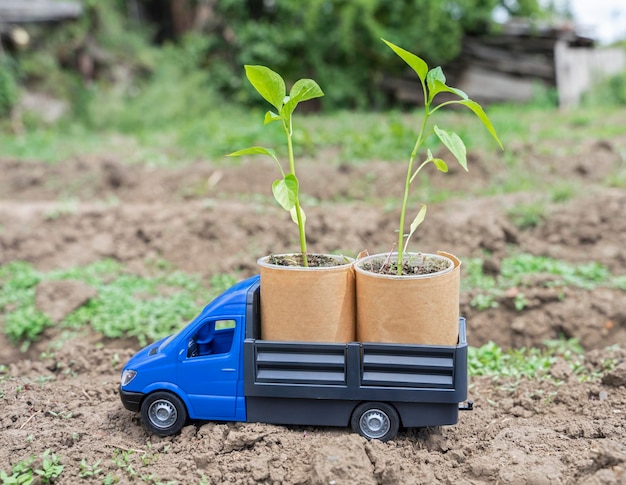
<svg viewBox="0 0 626 485">
<path fill-rule="evenodd" d="M 411 257 L 420 255 L 410 253 Z M 357 291 L 357 340 L 428 345 L 456 345 L 459 336 L 461 261 L 442 251 L 448 269 L 428 275 L 396 276 L 364 269 L 376 258 L 355 263 Z M 397 261 L 397 253 L 391 261 Z"/>
</svg>

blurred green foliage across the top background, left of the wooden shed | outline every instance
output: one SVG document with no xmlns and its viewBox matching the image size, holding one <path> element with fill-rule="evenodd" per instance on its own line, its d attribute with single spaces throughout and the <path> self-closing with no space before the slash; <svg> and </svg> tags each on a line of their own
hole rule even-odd
<svg viewBox="0 0 626 485">
<path fill-rule="evenodd" d="M 315 79 L 327 93 L 318 107 L 383 107 L 383 76 L 405 70 L 381 37 L 437 65 L 460 53 L 465 34 L 488 33 L 496 7 L 513 15 L 542 12 L 537 0 L 221 0 L 209 7 L 210 22 L 157 46 L 157 25 L 130 15 L 128 2 L 83 4 L 77 21 L 29 26 L 33 42 L 18 56 L 20 77 L 70 100 L 72 114 L 87 122 L 106 119 L 91 102 L 114 91 L 117 104 L 130 102 L 144 115 L 120 120 L 122 129 L 182 117 L 183 107 L 210 110 L 225 98 L 256 102 L 244 64 L 269 66 L 288 84 Z"/>
</svg>

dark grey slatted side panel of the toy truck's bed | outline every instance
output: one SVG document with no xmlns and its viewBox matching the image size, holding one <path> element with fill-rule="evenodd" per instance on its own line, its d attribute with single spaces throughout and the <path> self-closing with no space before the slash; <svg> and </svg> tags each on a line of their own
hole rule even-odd
<svg viewBox="0 0 626 485">
<path fill-rule="evenodd" d="M 465 319 L 456 346 L 244 341 L 246 396 L 459 403 L 467 398 Z"/>
</svg>

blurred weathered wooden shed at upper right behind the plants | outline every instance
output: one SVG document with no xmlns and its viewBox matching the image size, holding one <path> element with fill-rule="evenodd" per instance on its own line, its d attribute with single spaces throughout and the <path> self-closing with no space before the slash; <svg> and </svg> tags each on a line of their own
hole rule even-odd
<svg viewBox="0 0 626 485">
<path fill-rule="evenodd" d="M 510 28 L 499 35 L 466 37 L 461 55 L 444 66 L 450 83 L 484 103 L 528 102 L 537 86 L 556 88 L 559 106 L 575 106 L 599 78 L 626 70 L 621 48 L 599 48 L 570 29 Z M 413 79 L 386 79 L 401 101 L 419 101 Z"/>
</svg>

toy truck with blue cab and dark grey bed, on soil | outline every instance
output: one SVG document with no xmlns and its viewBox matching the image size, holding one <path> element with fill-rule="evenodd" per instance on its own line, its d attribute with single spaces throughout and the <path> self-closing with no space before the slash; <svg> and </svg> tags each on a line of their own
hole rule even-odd
<svg viewBox="0 0 626 485">
<path fill-rule="evenodd" d="M 467 396 L 465 320 L 456 346 L 262 340 L 260 277 L 227 290 L 125 365 L 124 407 L 167 436 L 188 420 L 351 426 L 387 441 L 456 424 Z"/>
</svg>

